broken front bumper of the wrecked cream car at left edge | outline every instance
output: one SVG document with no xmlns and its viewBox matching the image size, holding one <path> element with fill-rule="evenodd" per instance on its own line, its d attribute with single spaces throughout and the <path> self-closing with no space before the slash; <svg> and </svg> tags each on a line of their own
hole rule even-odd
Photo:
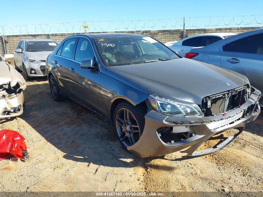
<svg viewBox="0 0 263 197">
<path fill-rule="evenodd" d="M 11 118 L 23 114 L 24 94 L 10 96 L 0 99 L 0 119 Z"/>
</svg>

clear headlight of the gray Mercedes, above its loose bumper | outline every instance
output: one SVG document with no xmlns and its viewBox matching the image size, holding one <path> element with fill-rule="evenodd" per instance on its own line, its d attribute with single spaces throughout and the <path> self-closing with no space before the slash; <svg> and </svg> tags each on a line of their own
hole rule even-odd
<svg viewBox="0 0 263 197">
<path fill-rule="evenodd" d="M 180 101 L 170 96 L 151 94 L 148 99 L 154 109 L 171 116 L 204 116 L 200 108 L 192 103 Z"/>
</svg>

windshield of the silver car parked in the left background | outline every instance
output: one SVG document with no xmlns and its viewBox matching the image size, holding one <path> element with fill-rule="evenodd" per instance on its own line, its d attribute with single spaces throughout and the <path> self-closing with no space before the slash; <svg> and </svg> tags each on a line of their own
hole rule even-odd
<svg viewBox="0 0 263 197">
<path fill-rule="evenodd" d="M 26 51 L 40 52 L 40 51 L 54 51 L 58 43 L 55 41 L 29 41 L 26 42 Z"/>
</svg>

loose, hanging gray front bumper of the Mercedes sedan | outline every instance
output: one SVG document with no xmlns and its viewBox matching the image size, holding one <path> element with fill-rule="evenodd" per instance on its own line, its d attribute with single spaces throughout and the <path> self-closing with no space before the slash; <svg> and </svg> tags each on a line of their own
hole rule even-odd
<svg viewBox="0 0 263 197">
<path fill-rule="evenodd" d="M 227 112 L 226 115 L 219 114 L 209 117 L 176 117 L 163 115 L 157 111 L 150 111 L 145 115 L 145 127 L 140 139 L 134 145 L 128 147 L 128 151 L 137 157 L 162 156 L 172 152 L 183 151 L 188 156 L 200 156 L 216 152 L 228 146 L 244 130 L 246 123 L 256 120 L 260 114 L 258 100 L 261 96 L 260 91 L 253 89 L 249 99 L 240 107 Z M 175 143 L 165 143 L 160 138 L 157 129 L 161 127 L 178 127 L 182 130 L 191 127 L 195 135 L 182 139 Z M 239 132 L 223 141 L 216 148 L 209 148 L 202 151 L 195 150 L 212 136 L 236 128 Z"/>
</svg>

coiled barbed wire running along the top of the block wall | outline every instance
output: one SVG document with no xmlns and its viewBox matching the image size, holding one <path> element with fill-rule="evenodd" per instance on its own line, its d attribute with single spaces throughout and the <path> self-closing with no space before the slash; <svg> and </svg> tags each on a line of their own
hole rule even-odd
<svg viewBox="0 0 263 197">
<path fill-rule="evenodd" d="M 263 15 L 251 16 L 213 16 L 181 17 L 157 20 L 137 21 L 76 21 L 35 25 L 0 26 L 1 35 L 14 34 L 48 34 L 48 33 L 82 33 L 97 31 L 154 30 L 166 28 L 200 28 L 218 26 L 262 25 Z M 84 26 L 87 26 L 84 29 Z"/>
</svg>

